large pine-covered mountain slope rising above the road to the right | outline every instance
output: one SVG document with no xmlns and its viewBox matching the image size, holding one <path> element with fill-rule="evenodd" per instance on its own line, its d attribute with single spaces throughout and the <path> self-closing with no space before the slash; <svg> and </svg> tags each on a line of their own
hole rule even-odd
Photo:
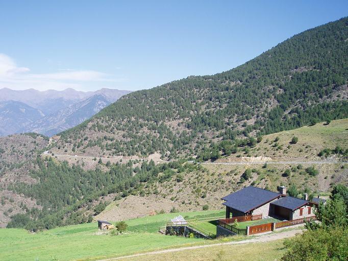
<svg viewBox="0 0 348 261">
<path fill-rule="evenodd" d="M 130 93 L 61 133 L 56 153 L 159 152 L 170 159 L 196 156 L 205 144 L 214 148 L 220 140 L 238 146 L 236 138 L 347 117 L 347 79 L 345 17 L 295 35 L 227 72 Z"/>
</svg>

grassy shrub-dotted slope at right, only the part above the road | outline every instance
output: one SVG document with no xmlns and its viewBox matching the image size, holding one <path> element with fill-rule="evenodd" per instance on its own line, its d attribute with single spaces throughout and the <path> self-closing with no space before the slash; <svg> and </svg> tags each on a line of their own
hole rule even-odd
<svg viewBox="0 0 348 261">
<path fill-rule="evenodd" d="M 295 143 L 292 139 L 295 138 Z M 335 151 L 339 148 L 338 151 Z M 320 154 L 323 150 L 328 153 Z M 238 148 L 217 162 L 250 161 L 348 161 L 348 119 L 281 131 L 262 137 L 255 146 Z M 261 157 L 247 159 L 243 157 Z M 265 158 L 262 158 L 265 157 Z"/>
</svg>

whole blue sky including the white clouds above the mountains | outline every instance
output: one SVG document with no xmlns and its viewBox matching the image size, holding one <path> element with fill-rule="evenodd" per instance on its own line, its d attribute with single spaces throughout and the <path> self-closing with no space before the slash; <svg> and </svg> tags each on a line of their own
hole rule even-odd
<svg viewBox="0 0 348 261">
<path fill-rule="evenodd" d="M 0 88 L 148 89 L 347 15 L 346 0 L 0 0 Z"/>
</svg>

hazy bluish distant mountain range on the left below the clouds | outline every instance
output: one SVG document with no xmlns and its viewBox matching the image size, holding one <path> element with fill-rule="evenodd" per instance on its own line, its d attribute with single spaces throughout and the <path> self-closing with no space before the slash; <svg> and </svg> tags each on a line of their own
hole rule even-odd
<svg viewBox="0 0 348 261">
<path fill-rule="evenodd" d="M 0 89 L 0 136 L 21 132 L 52 136 L 82 123 L 129 92 Z"/>
</svg>

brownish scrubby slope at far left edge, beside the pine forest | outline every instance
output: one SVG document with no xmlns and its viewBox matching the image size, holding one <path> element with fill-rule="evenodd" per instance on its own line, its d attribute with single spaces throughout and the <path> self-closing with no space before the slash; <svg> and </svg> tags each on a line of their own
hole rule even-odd
<svg viewBox="0 0 348 261">
<path fill-rule="evenodd" d="M 0 137 L 0 228 L 6 227 L 11 216 L 41 209 L 35 198 L 17 194 L 11 186 L 16 183 L 30 186 L 38 182 L 30 171 L 38 166 L 36 156 L 48 145 L 48 137 L 36 133 Z"/>
</svg>

